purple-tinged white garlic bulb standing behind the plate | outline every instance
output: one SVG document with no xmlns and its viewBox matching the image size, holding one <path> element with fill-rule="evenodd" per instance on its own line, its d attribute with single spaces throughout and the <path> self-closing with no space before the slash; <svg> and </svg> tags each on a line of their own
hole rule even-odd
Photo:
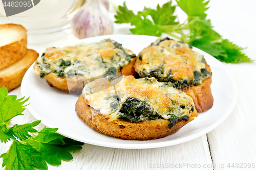
<svg viewBox="0 0 256 170">
<path fill-rule="evenodd" d="M 71 22 L 73 34 L 79 38 L 113 34 L 113 21 L 100 0 L 87 0 Z"/>
</svg>

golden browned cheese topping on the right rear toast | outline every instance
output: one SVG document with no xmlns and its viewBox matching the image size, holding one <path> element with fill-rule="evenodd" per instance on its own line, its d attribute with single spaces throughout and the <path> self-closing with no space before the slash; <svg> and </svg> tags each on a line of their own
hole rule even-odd
<svg viewBox="0 0 256 170">
<path fill-rule="evenodd" d="M 138 69 L 151 74 L 152 70 L 157 68 L 161 72 L 162 79 L 171 75 L 174 81 L 192 82 L 194 81 L 194 71 L 201 72 L 201 69 L 205 68 L 203 55 L 191 50 L 186 43 L 167 38 L 158 38 L 151 46 L 144 48 L 140 54 L 141 61 Z M 137 72 L 141 77 L 147 77 L 140 71 Z M 151 76 L 156 77 L 152 74 Z M 162 81 L 159 77 L 158 80 Z M 207 76 L 204 76 L 204 79 L 206 78 Z M 200 80 L 199 84 L 201 83 Z"/>
</svg>

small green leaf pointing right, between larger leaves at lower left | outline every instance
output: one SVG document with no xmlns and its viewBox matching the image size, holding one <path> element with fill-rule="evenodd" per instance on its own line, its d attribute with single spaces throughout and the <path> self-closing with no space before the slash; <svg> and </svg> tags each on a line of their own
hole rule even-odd
<svg viewBox="0 0 256 170">
<path fill-rule="evenodd" d="M 14 125 L 10 128 L 10 132 L 19 140 L 28 139 L 28 137 L 31 137 L 31 135 L 29 135 L 28 132 L 37 132 L 37 130 L 35 130 L 33 127 L 39 125 L 40 122 L 40 120 L 37 120 L 35 122 L 32 122 L 31 124 Z"/>
</svg>

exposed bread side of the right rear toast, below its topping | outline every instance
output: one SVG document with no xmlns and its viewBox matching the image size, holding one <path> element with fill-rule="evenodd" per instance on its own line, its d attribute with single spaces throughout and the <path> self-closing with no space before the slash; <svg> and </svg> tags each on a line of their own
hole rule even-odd
<svg viewBox="0 0 256 170">
<path fill-rule="evenodd" d="M 210 66 L 206 62 L 205 67 L 208 71 L 211 71 Z M 210 84 L 211 76 L 205 79 L 200 85 L 180 89 L 193 99 L 198 113 L 207 111 L 214 105 L 214 97 L 211 94 Z"/>
</svg>

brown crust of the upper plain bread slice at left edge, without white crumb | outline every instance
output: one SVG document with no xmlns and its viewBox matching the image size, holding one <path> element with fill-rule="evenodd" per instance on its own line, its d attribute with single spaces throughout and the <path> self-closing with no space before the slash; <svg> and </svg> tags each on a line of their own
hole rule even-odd
<svg viewBox="0 0 256 170">
<path fill-rule="evenodd" d="M 15 29 L 23 38 L 0 47 L 0 70 L 22 59 L 27 53 L 27 30 L 23 26 L 7 24 L 0 25 L 1 29 Z"/>
</svg>

